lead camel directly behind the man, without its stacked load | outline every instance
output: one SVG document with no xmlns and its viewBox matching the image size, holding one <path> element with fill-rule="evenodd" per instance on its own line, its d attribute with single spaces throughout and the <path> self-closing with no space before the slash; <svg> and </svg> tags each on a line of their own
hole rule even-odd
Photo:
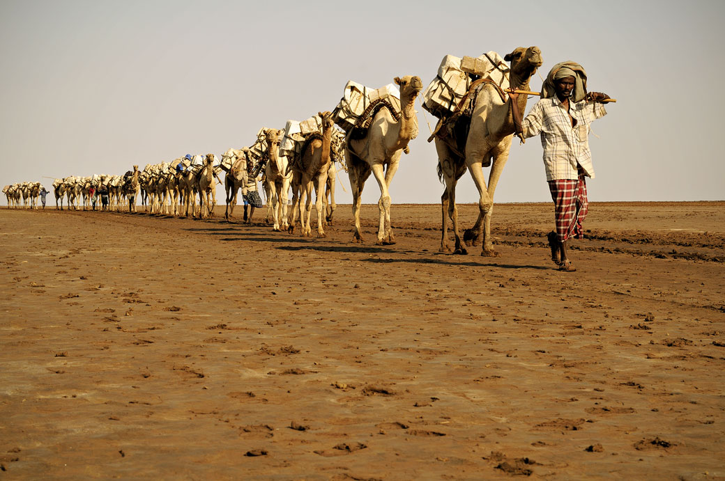
<svg viewBox="0 0 725 481">
<path fill-rule="evenodd" d="M 541 50 L 537 46 L 528 49 L 518 47 L 504 57 L 505 61 L 511 62 L 509 72 L 510 87 L 521 90 L 529 90 L 531 75 L 542 65 Z M 458 212 L 455 206 L 455 187 L 457 180 L 465 173 L 466 169 L 471 172 L 473 183 L 479 189 L 479 218 L 470 230 L 464 235 L 466 243 L 469 241 L 478 245 L 483 225 L 483 248 L 481 256 L 497 256 L 494 251 L 491 238 L 491 214 L 494 206 L 494 191 L 503 172 L 503 167 L 508 160 L 513 138 L 514 126 L 511 117 L 510 103 L 502 100 L 500 93 L 491 83 L 483 83 L 481 90 L 476 96 L 476 106 L 471 115 L 471 125 L 465 139 L 465 158 L 455 154 L 444 141 L 436 137 L 436 151 L 438 152 L 439 177 L 446 185 L 441 196 L 442 204 L 442 238 L 441 252 L 451 252 L 448 246 L 448 226 L 450 218 L 452 221 L 453 234 L 455 235 L 454 254 L 467 254 L 465 247 L 460 242 L 458 231 Z M 518 108 L 526 108 L 526 96 L 519 96 Z M 483 167 L 491 164 L 489 173 L 489 184 L 486 187 Z"/>
</svg>

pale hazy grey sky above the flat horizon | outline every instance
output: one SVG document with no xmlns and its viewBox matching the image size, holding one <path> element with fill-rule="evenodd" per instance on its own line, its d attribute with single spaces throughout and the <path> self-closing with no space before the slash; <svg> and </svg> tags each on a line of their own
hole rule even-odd
<svg viewBox="0 0 725 481">
<path fill-rule="evenodd" d="M 0 1 L 0 185 L 220 155 L 260 127 L 334 109 L 347 80 L 378 88 L 419 75 L 428 85 L 445 54 L 537 45 L 542 77 L 573 60 L 590 91 L 618 100 L 592 126 L 590 200 L 725 199 L 725 2 L 247 3 Z M 532 89 L 541 84 L 535 75 Z M 438 203 L 443 191 L 426 142 L 435 118 L 416 108 L 420 134 L 394 204 Z M 347 174 L 339 179 L 337 201 L 349 204 Z M 363 201 L 378 197 L 371 177 Z M 495 201 L 550 200 L 541 143 L 515 140 Z M 478 201 L 468 173 L 457 201 Z"/>
</svg>

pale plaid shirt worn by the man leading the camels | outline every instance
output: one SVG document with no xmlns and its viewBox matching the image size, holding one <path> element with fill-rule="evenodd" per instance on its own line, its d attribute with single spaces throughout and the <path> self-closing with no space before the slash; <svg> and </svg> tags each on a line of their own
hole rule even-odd
<svg viewBox="0 0 725 481">
<path fill-rule="evenodd" d="M 576 179 L 577 164 L 584 173 L 594 178 L 592 152 L 589 151 L 589 125 L 607 114 L 604 104 L 590 101 L 569 102 L 571 120 L 556 96 L 541 99 L 521 122 L 523 137 L 541 134 L 544 147 L 546 180 Z"/>
</svg>

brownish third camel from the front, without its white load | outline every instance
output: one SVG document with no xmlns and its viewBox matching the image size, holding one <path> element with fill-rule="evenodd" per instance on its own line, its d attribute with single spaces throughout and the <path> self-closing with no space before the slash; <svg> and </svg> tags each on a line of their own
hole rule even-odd
<svg viewBox="0 0 725 481">
<path fill-rule="evenodd" d="M 332 131 L 335 122 L 331 112 L 318 112 L 322 118 L 322 135 L 310 135 L 302 146 L 302 154 L 299 157 L 299 203 L 292 200 L 291 222 L 289 232 L 294 230 L 294 217 L 297 212 L 295 204 L 299 204 L 300 222 L 302 222 L 302 235 L 312 235 L 310 228 L 310 214 L 312 205 L 312 188 L 315 189 L 315 208 L 318 213 L 318 238 L 326 237 L 323 223 L 323 197 L 327 185 L 328 171 L 332 164 L 331 145 Z M 297 196 L 297 193 L 295 193 Z M 306 197 L 306 199 L 305 199 Z M 305 204 L 305 211 L 302 211 L 302 204 Z"/>
</svg>

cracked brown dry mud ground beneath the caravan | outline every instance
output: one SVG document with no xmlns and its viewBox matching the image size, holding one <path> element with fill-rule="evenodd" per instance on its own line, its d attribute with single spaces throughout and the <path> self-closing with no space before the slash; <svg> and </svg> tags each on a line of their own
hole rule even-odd
<svg viewBox="0 0 725 481">
<path fill-rule="evenodd" d="M 382 247 L 377 206 L 364 244 L 1 209 L 0 479 L 725 479 L 725 203 L 594 203 L 572 273 L 552 211 L 489 258 L 435 205 Z"/>
</svg>

